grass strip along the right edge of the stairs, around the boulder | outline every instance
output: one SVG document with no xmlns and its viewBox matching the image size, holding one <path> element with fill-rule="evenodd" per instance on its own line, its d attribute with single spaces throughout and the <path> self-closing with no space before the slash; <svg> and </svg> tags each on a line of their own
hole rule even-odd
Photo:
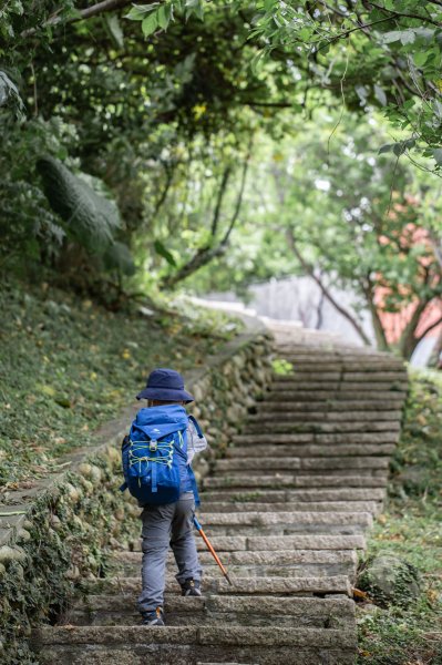
<svg viewBox="0 0 442 665">
<path fill-rule="evenodd" d="M 420 572 L 422 593 L 407 610 L 359 606 L 358 664 L 442 665 L 441 478 L 442 380 L 435 372 L 414 372 L 389 502 L 368 554 L 382 551 L 407 560 Z"/>
</svg>

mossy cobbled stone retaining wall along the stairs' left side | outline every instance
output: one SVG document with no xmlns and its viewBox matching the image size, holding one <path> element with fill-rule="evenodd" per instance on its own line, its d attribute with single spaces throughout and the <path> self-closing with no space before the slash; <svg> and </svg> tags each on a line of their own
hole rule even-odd
<svg viewBox="0 0 442 665">
<path fill-rule="evenodd" d="M 210 458 L 223 454 L 247 408 L 270 380 L 271 342 L 250 326 L 186 376 L 196 398 L 193 413 L 210 444 L 199 456 L 203 477 Z M 3 494 L 0 504 L 0 662 L 35 664 L 28 637 L 32 626 L 53 620 L 72 597 L 80 577 L 102 576 L 107 551 L 138 532 L 140 509 L 122 481 L 120 444 L 140 405 L 102 428 L 97 444 L 60 460 L 62 472 L 30 490 Z M 69 469 L 69 470 L 66 470 Z"/>
</svg>

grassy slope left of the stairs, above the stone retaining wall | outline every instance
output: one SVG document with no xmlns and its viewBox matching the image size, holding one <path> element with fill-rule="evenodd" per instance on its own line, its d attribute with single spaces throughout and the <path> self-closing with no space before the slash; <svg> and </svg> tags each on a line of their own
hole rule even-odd
<svg viewBox="0 0 442 665">
<path fill-rule="evenodd" d="M 155 366 L 198 368 L 233 335 L 215 314 L 113 313 L 48 285 L 3 286 L 0 309 L 3 489 L 32 487 L 60 454 L 91 446 Z"/>
</svg>

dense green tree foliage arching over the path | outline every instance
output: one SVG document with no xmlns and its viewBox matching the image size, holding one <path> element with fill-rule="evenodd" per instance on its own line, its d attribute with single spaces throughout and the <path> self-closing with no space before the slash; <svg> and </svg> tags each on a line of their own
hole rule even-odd
<svg viewBox="0 0 442 665">
<path fill-rule="evenodd" d="M 381 347 L 410 307 L 412 354 L 440 298 L 439 0 L 13 0 L 0 34 L 0 268 L 107 300 L 307 273 Z"/>
</svg>

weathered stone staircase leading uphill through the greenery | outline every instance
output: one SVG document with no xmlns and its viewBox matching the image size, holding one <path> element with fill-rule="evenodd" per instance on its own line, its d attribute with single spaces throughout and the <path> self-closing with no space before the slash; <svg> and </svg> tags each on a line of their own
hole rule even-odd
<svg viewBox="0 0 442 665">
<path fill-rule="evenodd" d="M 204 596 L 183 598 L 171 556 L 164 628 L 140 626 L 141 552 L 86 581 L 64 625 L 37 636 L 54 665 L 350 665 L 352 584 L 382 505 L 407 390 L 391 356 L 276 330 L 294 374 L 275 376 L 215 473 L 201 521 L 234 585 L 197 538 Z"/>
</svg>

